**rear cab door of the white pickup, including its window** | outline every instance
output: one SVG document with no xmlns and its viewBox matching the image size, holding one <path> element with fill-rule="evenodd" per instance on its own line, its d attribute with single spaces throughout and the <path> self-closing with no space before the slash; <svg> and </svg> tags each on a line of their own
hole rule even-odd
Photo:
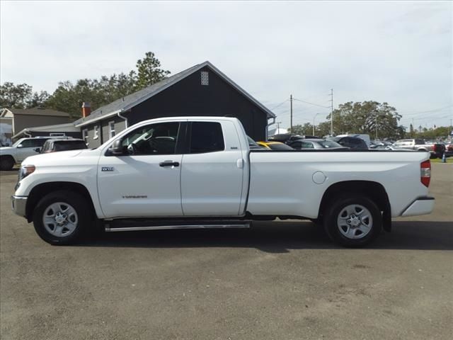
<svg viewBox="0 0 453 340">
<path fill-rule="evenodd" d="M 185 216 L 241 215 L 244 166 L 238 132 L 231 121 L 193 121 L 181 169 Z"/>
</svg>

